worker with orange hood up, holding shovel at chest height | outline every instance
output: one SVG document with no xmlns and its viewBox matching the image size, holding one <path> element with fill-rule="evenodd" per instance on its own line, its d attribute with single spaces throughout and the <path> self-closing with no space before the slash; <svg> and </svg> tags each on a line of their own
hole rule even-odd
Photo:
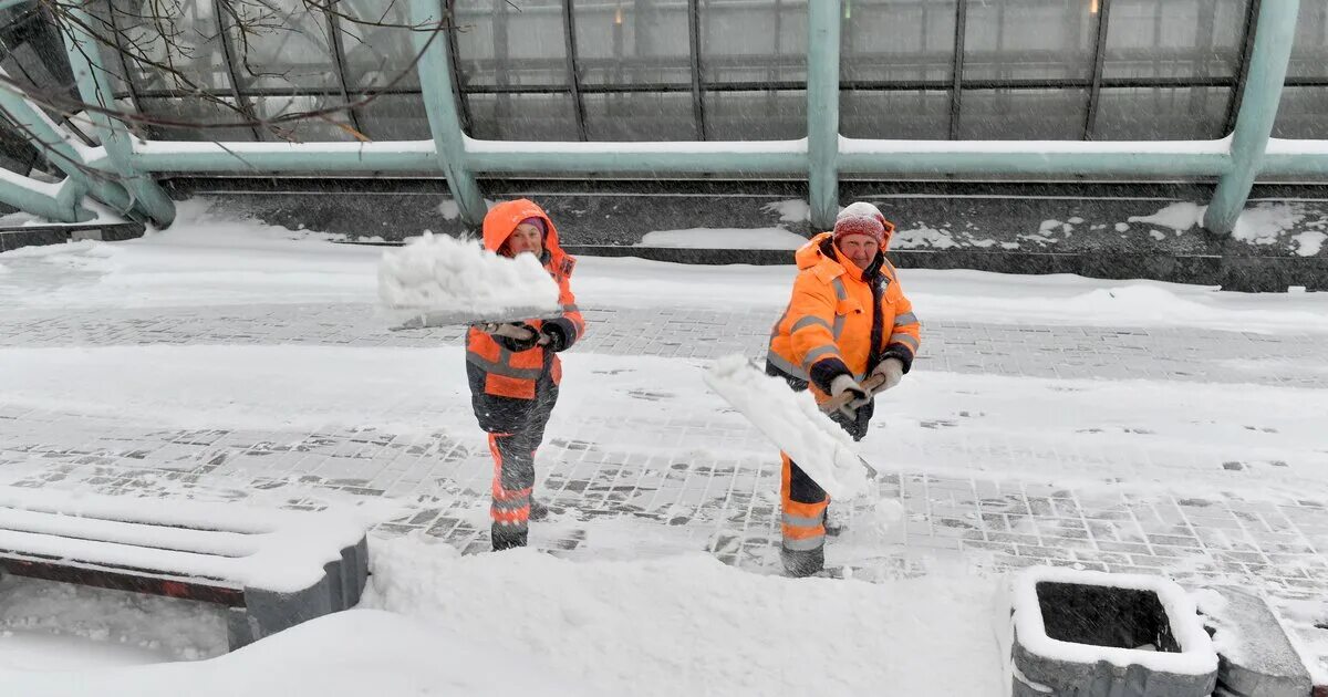
<svg viewBox="0 0 1328 697">
<path fill-rule="evenodd" d="M 535 450 L 558 402 L 566 350 L 586 332 L 576 309 L 571 275 L 576 260 L 558 246 L 558 230 L 543 208 L 518 199 L 485 215 L 485 248 L 503 256 L 534 254 L 558 281 L 562 315 L 497 327 L 471 327 L 466 335 L 466 377 L 479 427 L 489 433 L 494 458 L 490 539 L 493 548 L 525 547 L 529 522 L 548 514 L 534 499 Z M 485 331 L 489 329 L 489 331 Z"/>
</svg>

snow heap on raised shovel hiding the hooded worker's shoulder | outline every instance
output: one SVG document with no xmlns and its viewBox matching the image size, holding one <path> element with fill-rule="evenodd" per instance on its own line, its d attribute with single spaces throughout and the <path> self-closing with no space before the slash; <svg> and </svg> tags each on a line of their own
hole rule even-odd
<svg viewBox="0 0 1328 697">
<path fill-rule="evenodd" d="M 390 309 L 519 319 L 556 313 L 558 284 L 535 255 L 507 259 L 474 242 L 426 231 L 382 254 L 378 299 Z"/>
</svg>

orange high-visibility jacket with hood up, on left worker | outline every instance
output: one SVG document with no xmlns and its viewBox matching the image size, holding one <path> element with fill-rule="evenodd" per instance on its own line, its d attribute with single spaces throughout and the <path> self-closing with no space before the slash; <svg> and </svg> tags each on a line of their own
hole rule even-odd
<svg viewBox="0 0 1328 697">
<path fill-rule="evenodd" d="M 526 218 L 544 220 L 544 256 L 542 262 L 548 273 L 558 281 L 558 303 L 562 316 L 552 320 L 526 320 L 526 324 L 540 329 L 552 323 L 564 339 L 560 349 L 571 347 L 586 332 L 586 320 L 576 308 L 572 296 L 571 275 L 576 259 L 563 252 L 558 244 L 558 230 L 548 215 L 537 203 L 526 199 L 507 200 L 489 210 L 485 215 L 485 248 L 497 252 L 507 238 Z M 485 394 L 534 400 L 535 384 L 544 374 L 552 377 L 556 385 L 562 380 L 562 364 L 547 347 L 534 347 L 522 352 L 511 352 L 494 341 L 491 336 L 474 327 L 466 333 L 466 361 L 479 368 Z M 475 386 L 477 389 L 479 385 Z"/>
</svg>

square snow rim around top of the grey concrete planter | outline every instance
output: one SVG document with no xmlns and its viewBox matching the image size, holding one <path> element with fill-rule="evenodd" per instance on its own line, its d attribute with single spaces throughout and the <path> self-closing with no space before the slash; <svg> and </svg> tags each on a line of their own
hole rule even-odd
<svg viewBox="0 0 1328 697">
<path fill-rule="evenodd" d="M 1150 591 L 1157 595 L 1166 609 L 1179 653 L 1125 649 L 1114 647 L 1093 647 L 1074 644 L 1046 636 L 1042 621 L 1042 608 L 1037 600 L 1038 583 L 1068 583 L 1080 585 L 1105 585 L 1133 591 Z M 1031 653 L 1057 661 L 1097 662 L 1108 661 L 1118 668 L 1142 665 L 1150 670 L 1187 676 L 1201 676 L 1218 669 L 1218 655 L 1212 640 L 1199 621 L 1194 599 L 1175 581 L 1162 576 L 1142 574 L 1106 574 L 1101 571 L 1076 571 L 1061 567 L 1031 567 L 1013 580 L 1012 599 L 1015 608 L 1015 631 L 1019 643 Z"/>
</svg>

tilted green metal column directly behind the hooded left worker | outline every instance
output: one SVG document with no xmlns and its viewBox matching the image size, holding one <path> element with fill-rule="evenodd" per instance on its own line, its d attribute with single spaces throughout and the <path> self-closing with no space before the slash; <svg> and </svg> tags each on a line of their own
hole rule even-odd
<svg viewBox="0 0 1328 697">
<path fill-rule="evenodd" d="M 457 114 L 452 70 L 448 69 L 448 37 L 442 33 L 452 31 L 450 23 L 442 23 L 445 17 L 441 0 L 409 1 L 410 24 L 416 25 L 410 36 L 416 52 L 420 53 L 416 72 L 420 73 L 420 90 L 425 113 L 429 114 L 429 131 L 438 151 L 438 166 L 448 178 L 448 187 L 452 189 L 452 198 L 457 200 L 462 220 L 479 226 L 489 208 L 483 194 L 479 193 L 479 182 L 466 167 L 465 137 Z M 438 29 L 429 31 L 426 27 Z"/>
</svg>

